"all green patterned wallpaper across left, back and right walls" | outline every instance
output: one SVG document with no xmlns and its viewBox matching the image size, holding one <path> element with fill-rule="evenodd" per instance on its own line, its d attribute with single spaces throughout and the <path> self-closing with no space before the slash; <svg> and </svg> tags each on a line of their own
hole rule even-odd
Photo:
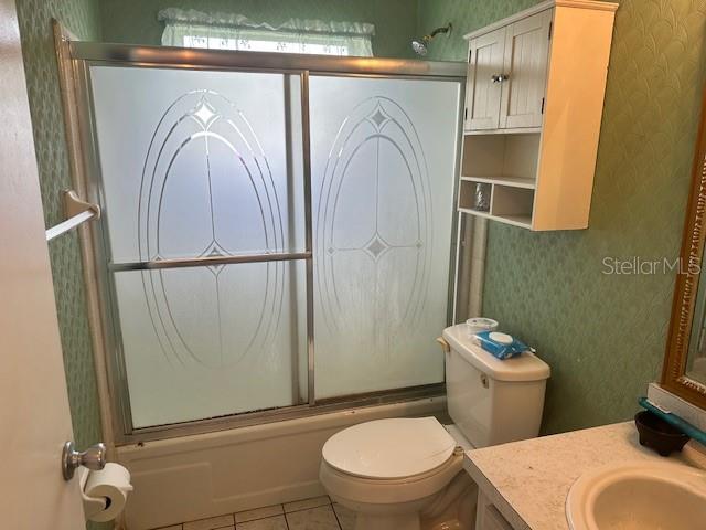
<svg viewBox="0 0 706 530">
<path fill-rule="evenodd" d="M 448 21 L 429 59 L 463 60 L 462 34 L 536 0 L 242 0 L 274 23 L 290 17 L 377 25 L 378 55 L 408 56 L 413 34 Z M 674 257 L 678 250 L 704 80 L 706 0 L 622 0 L 618 11 L 590 229 L 531 233 L 491 223 L 484 312 L 533 343 L 553 368 L 545 432 L 623 420 L 659 377 L 674 277 L 608 276 L 603 256 Z M 98 8 L 99 6 L 99 8 Z M 233 10 L 226 0 L 18 0 L 46 224 L 69 184 L 51 17 L 83 39 L 158 43 L 167 6 Z M 103 34 L 99 31 L 103 21 Z M 50 247 L 74 430 L 99 438 L 78 244 Z"/>
</svg>

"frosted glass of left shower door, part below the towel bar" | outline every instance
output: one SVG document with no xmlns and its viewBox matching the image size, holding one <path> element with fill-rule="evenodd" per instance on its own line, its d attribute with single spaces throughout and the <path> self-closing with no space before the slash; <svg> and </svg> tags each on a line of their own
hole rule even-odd
<svg viewBox="0 0 706 530">
<path fill-rule="evenodd" d="M 303 262 L 115 275 L 132 423 L 307 401 Z"/>
</svg>

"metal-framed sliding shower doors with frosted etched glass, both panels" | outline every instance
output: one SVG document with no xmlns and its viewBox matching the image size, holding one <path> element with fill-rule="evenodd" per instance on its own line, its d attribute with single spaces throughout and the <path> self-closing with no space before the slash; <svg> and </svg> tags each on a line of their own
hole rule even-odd
<svg viewBox="0 0 706 530">
<path fill-rule="evenodd" d="M 442 390 L 463 65 L 71 54 L 118 442 Z"/>
</svg>

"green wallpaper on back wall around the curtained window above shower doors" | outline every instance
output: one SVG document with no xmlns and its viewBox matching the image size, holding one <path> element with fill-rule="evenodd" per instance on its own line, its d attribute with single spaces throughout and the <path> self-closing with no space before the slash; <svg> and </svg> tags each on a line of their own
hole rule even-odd
<svg viewBox="0 0 706 530">
<path fill-rule="evenodd" d="M 379 56 L 411 56 L 409 41 L 416 31 L 416 0 L 103 0 L 103 36 L 108 42 L 159 44 L 163 8 L 244 14 L 280 24 L 288 19 L 322 19 L 375 24 L 373 51 Z"/>
</svg>

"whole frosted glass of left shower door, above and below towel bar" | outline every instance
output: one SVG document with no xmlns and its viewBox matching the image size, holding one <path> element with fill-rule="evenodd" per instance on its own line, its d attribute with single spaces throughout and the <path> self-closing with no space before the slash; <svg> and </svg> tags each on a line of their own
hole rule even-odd
<svg viewBox="0 0 706 530">
<path fill-rule="evenodd" d="M 304 250 L 299 78 L 93 66 L 113 263 Z M 132 424 L 306 402 L 304 266 L 113 276 Z"/>
</svg>

